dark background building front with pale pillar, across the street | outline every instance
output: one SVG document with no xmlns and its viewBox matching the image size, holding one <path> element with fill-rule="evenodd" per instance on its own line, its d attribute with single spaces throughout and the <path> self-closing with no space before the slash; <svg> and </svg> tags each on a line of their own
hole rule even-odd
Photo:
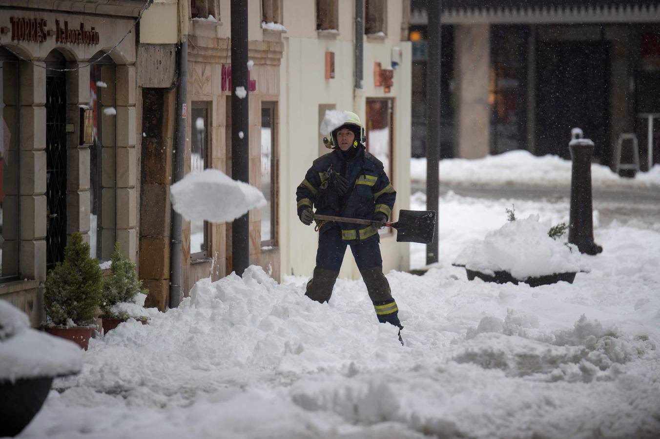
<svg viewBox="0 0 660 439">
<path fill-rule="evenodd" d="M 580 127 L 595 142 L 594 160 L 612 169 L 632 160 L 631 148 L 616 149 L 626 133 L 638 138 L 642 170 L 660 162 L 659 3 L 468 0 L 442 7 L 444 157 L 524 149 L 568 158 L 570 129 Z M 424 90 L 416 84 L 425 75 L 428 18 L 423 1 L 411 8 L 419 103 L 413 151 L 421 156 Z"/>
</svg>

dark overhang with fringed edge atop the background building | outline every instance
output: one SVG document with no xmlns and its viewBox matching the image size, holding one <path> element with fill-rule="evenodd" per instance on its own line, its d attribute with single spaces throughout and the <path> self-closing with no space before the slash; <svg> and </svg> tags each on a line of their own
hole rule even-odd
<svg viewBox="0 0 660 439">
<path fill-rule="evenodd" d="M 634 0 L 444 0 L 442 24 L 660 22 L 660 4 Z M 424 3 L 411 5 L 412 26 L 428 24 Z"/>
</svg>

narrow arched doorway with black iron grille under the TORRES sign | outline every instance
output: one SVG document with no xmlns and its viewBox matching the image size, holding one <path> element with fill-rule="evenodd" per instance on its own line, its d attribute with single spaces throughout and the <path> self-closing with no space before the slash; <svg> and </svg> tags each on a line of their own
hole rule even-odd
<svg viewBox="0 0 660 439">
<path fill-rule="evenodd" d="M 67 87 L 64 56 L 46 57 L 46 270 L 64 259 L 67 243 Z"/>
</svg>

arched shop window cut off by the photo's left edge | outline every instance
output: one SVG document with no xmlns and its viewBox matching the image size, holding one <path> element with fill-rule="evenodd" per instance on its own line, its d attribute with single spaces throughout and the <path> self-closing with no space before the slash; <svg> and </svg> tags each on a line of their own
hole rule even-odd
<svg viewBox="0 0 660 439">
<path fill-rule="evenodd" d="M 0 281 L 12 280 L 18 275 L 18 161 L 14 152 L 18 149 L 18 121 L 16 106 L 5 105 L 9 94 L 7 87 L 18 90 L 18 62 L 0 47 Z M 15 96 L 15 94 L 13 94 Z M 8 102 L 11 99 L 7 100 Z M 11 117 L 10 117 L 11 115 Z"/>
</svg>

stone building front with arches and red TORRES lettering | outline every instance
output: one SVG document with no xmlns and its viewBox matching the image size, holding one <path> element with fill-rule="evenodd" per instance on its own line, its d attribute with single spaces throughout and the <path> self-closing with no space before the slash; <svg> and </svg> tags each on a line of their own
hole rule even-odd
<svg viewBox="0 0 660 439">
<path fill-rule="evenodd" d="M 34 325 L 67 235 L 100 261 L 115 242 L 137 257 L 135 26 L 148 5 L 0 1 L 0 299 Z"/>
</svg>

